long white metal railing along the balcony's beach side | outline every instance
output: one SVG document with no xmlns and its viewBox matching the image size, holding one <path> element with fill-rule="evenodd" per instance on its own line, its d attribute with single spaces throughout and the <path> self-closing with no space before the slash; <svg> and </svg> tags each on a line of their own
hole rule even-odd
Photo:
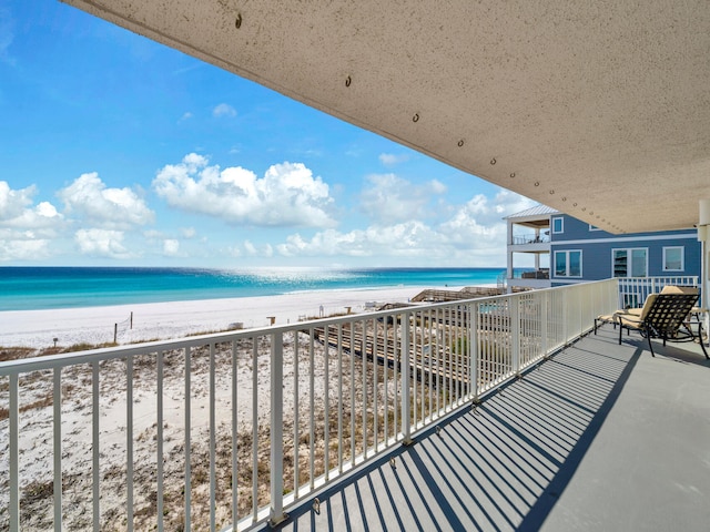
<svg viewBox="0 0 710 532">
<path fill-rule="evenodd" d="M 519 375 L 618 282 L 0 362 L 0 529 L 245 530 Z"/>
</svg>

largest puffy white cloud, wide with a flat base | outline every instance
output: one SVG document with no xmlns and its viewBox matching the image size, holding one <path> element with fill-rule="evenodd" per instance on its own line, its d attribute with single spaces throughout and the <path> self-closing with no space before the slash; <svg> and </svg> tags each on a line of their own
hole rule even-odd
<svg viewBox="0 0 710 532">
<path fill-rule="evenodd" d="M 169 205 L 230 224 L 328 227 L 335 225 L 328 185 L 301 163 L 271 166 L 264 177 L 240 166 L 220 170 L 191 153 L 166 165 L 153 188 Z"/>
</svg>

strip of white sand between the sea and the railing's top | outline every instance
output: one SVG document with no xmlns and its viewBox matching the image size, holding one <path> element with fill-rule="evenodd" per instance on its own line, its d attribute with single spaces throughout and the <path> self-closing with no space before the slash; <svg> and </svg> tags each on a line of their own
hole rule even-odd
<svg viewBox="0 0 710 532">
<path fill-rule="evenodd" d="M 116 305 L 50 310 L 0 313 L 0 346 L 45 348 L 113 341 L 119 344 L 180 338 L 195 332 L 293 324 L 304 318 L 327 317 L 351 308 L 362 313 L 386 303 L 406 303 L 427 287 L 367 290 L 305 291 L 281 296 L 203 299 L 192 301 Z M 460 287 L 448 287 L 458 290 Z M 130 317 L 133 313 L 133 328 Z"/>
</svg>

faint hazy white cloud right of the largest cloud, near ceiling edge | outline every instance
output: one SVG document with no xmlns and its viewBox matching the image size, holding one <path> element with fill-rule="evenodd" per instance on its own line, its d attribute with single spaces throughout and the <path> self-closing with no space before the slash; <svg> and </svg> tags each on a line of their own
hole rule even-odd
<svg viewBox="0 0 710 532">
<path fill-rule="evenodd" d="M 446 192 L 439 181 L 415 185 L 395 174 L 369 175 L 367 182 L 369 187 L 361 194 L 361 209 L 383 224 L 430 217 L 426 207 Z"/>
</svg>

